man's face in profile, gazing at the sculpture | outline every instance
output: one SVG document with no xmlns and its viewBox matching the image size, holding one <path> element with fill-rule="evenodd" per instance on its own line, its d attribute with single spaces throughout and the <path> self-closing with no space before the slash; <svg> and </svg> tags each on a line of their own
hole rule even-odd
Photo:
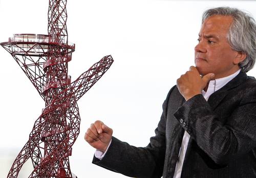
<svg viewBox="0 0 256 178">
<path fill-rule="evenodd" d="M 231 49 L 227 32 L 232 22 L 230 16 L 208 17 L 199 32 L 195 47 L 195 65 L 200 74 L 215 73 L 215 78 L 226 77 L 239 69 L 238 52 Z"/>
</svg>

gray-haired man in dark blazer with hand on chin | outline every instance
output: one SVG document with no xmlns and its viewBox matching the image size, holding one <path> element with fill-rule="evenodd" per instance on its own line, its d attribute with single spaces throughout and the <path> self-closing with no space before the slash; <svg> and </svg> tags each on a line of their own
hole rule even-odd
<svg viewBox="0 0 256 178">
<path fill-rule="evenodd" d="M 93 163 L 133 177 L 256 177 L 256 24 L 233 8 L 203 14 L 195 65 L 177 80 L 146 147 L 96 121 L 84 139 Z M 97 157 L 97 158 L 96 158 Z"/>
</svg>

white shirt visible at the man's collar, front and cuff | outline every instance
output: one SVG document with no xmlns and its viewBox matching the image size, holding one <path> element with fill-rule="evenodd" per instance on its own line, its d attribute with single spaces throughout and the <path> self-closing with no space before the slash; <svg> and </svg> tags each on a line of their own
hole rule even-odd
<svg viewBox="0 0 256 178">
<path fill-rule="evenodd" d="M 202 95 L 204 96 L 205 100 L 208 100 L 208 98 L 210 97 L 210 95 L 212 93 L 221 89 L 224 85 L 226 85 L 229 81 L 231 81 L 234 77 L 236 77 L 239 74 L 240 70 L 241 69 L 239 69 L 237 72 L 235 72 L 235 73 L 233 73 L 233 74 L 231 74 L 227 77 L 210 81 L 207 91 L 205 92 L 204 90 L 202 90 Z M 179 159 L 176 163 L 174 178 L 180 178 L 180 176 L 181 176 L 181 170 L 182 170 L 182 166 L 183 166 L 183 162 L 184 162 L 185 153 L 186 153 L 189 138 L 190 138 L 190 135 L 185 131 L 183 139 L 182 139 L 181 147 L 180 147 Z M 110 141 L 110 144 L 111 144 L 111 141 Z M 109 144 L 109 146 L 110 146 L 110 144 Z M 108 151 L 109 146 L 108 146 L 108 148 L 106 148 L 106 151 Z M 96 150 L 94 155 L 95 155 L 96 158 L 102 160 L 102 158 L 106 154 L 106 151 L 101 152 L 100 150 Z"/>
</svg>

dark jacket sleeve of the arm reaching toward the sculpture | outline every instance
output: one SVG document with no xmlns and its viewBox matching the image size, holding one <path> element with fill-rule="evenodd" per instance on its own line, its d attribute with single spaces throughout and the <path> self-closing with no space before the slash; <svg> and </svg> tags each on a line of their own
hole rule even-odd
<svg viewBox="0 0 256 178">
<path fill-rule="evenodd" d="M 173 87 L 174 88 L 174 87 Z M 161 177 L 165 157 L 165 123 L 169 94 L 163 103 L 163 113 L 146 147 L 135 147 L 112 137 L 112 142 L 102 160 L 93 163 L 106 169 L 132 177 Z"/>
</svg>

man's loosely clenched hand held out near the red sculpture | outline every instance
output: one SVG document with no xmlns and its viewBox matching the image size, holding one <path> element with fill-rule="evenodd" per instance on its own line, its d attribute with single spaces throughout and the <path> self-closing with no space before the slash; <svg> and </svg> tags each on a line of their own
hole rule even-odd
<svg viewBox="0 0 256 178">
<path fill-rule="evenodd" d="M 84 135 L 84 140 L 86 140 L 94 148 L 105 152 L 108 147 L 113 130 L 106 126 L 100 120 L 95 121 L 91 124 L 90 128 Z"/>
</svg>

